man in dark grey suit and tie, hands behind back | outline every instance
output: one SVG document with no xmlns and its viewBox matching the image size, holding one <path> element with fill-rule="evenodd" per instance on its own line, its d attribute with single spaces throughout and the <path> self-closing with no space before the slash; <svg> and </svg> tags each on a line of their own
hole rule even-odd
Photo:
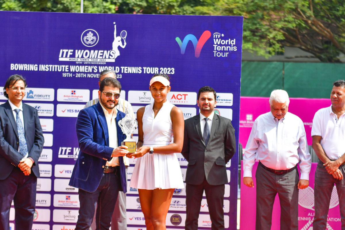
<svg viewBox="0 0 345 230">
<path fill-rule="evenodd" d="M 231 121 L 214 113 L 216 92 L 199 89 L 200 114 L 185 121 L 182 155 L 188 161 L 186 173 L 186 230 L 198 229 L 201 199 L 205 190 L 211 229 L 224 229 L 224 189 L 228 183 L 226 163 L 236 152 Z"/>
</svg>

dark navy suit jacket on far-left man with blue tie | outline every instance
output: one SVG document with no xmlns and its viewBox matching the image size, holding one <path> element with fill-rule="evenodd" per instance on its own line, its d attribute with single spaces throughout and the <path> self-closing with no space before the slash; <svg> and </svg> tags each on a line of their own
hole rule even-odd
<svg viewBox="0 0 345 230">
<path fill-rule="evenodd" d="M 23 118 L 28 157 L 32 157 L 35 162 L 31 170 L 39 177 L 38 159 L 42 152 L 44 138 L 37 109 L 23 103 Z M 23 158 L 18 152 L 18 147 L 17 123 L 10 103 L 7 101 L 0 105 L 0 180 L 6 179 Z"/>
</svg>

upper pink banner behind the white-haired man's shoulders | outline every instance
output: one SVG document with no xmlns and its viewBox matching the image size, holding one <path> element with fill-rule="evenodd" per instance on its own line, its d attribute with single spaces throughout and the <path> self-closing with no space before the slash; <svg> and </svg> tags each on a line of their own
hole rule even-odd
<svg viewBox="0 0 345 230">
<path fill-rule="evenodd" d="M 331 105 L 331 99 L 290 98 L 289 112 L 297 115 L 304 123 L 308 145 L 312 145 L 312 125 L 314 114 Z M 239 115 L 239 143 L 246 147 L 255 119 L 269 112 L 268 97 L 241 97 Z"/>
</svg>

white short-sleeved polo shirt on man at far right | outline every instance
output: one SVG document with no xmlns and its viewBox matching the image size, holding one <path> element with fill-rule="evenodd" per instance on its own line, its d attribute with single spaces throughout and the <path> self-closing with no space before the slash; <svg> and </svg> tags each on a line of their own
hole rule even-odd
<svg viewBox="0 0 345 230">
<path fill-rule="evenodd" d="M 331 160 L 345 153 L 345 113 L 339 119 L 332 105 L 319 109 L 313 119 L 312 136 L 321 136 L 321 146 Z"/>
</svg>

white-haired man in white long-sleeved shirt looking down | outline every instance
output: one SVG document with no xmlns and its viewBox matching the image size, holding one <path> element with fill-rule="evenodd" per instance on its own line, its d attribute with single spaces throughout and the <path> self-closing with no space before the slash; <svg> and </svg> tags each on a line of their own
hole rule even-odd
<svg viewBox="0 0 345 230">
<path fill-rule="evenodd" d="M 271 229 L 276 194 L 280 201 L 280 229 L 298 229 L 298 189 L 309 185 L 311 156 L 302 120 L 288 113 L 289 96 L 273 90 L 270 112 L 254 122 L 243 157 L 243 183 L 254 188 L 252 169 L 256 171 L 256 230 Z M 298 177 L 297 163 L 300 167 Z"/>
</svg>

